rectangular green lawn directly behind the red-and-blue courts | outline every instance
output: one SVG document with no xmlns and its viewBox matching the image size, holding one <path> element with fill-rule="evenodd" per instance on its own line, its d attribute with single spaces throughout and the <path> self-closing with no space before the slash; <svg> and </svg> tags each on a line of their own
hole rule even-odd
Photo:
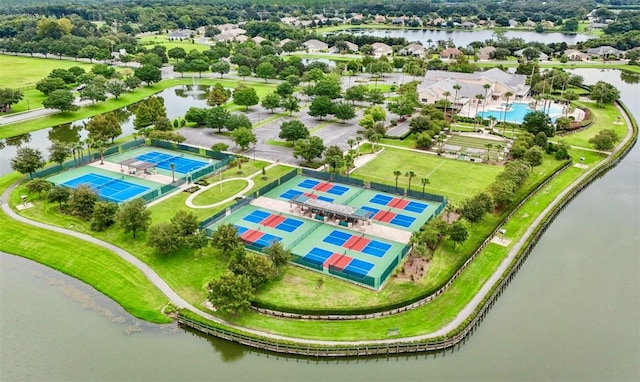
<svg viewBox="0 0 640 382">
<path fill-rule="evenodd" d="M 420 178 L 429 178 L 431 183 L 425 188 L 426 192 L 444 195 L 457 204 L 484 190 L 502 171 L 502 167 L 386 148 L 374 160 L 354 171 L 352 176 L 393 185 L 395 170 L 403 174 L 398 179 L 398 186 L 408 186 L 408 178 L 404 174 L 412 170 L 417 174 L 412 179 L 412 189 L 421 190 Z"/>
</svg>

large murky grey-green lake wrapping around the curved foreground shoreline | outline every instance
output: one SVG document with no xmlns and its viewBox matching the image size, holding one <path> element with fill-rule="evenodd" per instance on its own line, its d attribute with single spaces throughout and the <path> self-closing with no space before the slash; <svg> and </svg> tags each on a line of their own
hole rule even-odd
<svg viewBox="0 0 640 382">
<path fill-rule="evenodd" d="M 621 89 L 640 119 L 640 87 Z M 635 106 L 635 107 L 634 107 Z M 0 380 L 640 380 L 640 149 L 556 219 L 455 352 L 275 357 L 133 319 L 90 287 L 0 255 Z"/>
</svg>

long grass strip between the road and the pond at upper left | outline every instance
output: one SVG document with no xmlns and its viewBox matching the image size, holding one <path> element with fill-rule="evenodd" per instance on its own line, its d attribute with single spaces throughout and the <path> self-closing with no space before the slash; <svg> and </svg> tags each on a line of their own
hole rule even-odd
<svg viewBox="0 0 640 382">
<path fill-rule="evenodd" d="M 219 82 L 223 86 L 230 88 L 235 88 L 240 83 L 239 81 L 224 78 L 198 78 L 196 79 L 196 81 L 199 85 L 213 85 Z M 110 98 L 104 102 L 98 102 L 95 105 L 84 106 L 78 111 L 57 113 L 42 118 L 28 120 L 25 122 L 4 125 L 0 127 L 0 139 L 25 134 L 31 131 L 46 129 L 64 123 L 71 123 L 85 118 L 90 118 L 98 114 L 113 111 L 115 109 L 128 106 L 132 103 L 139 102 L 149 97 L 150 95 L 161 92 L 164 89 L 178 85 L 191 85 L 192 83 L 193 80 L 191 79 L 191 77 L 162 80 L 157 84 L 138 88 L 131 93 L 125 93 L 121 95 L 117 100 L 115 98 Z M 255 88 L 256 93 L 261 98 L 275 89 L 275 84 L 265 84 L 264 82 L 254 81 L 245 81 L 244 83 Z M 230 111 L 244 110 L 244 106 L 238 106 L 233 104 L 232 102 L 227 105 L 227 108 Z"/>
</svg>

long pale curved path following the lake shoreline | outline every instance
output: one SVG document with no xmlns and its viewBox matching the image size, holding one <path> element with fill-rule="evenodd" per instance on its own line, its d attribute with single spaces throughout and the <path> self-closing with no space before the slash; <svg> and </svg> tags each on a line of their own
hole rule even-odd
<svg viewBox="0 0 640 382">
<path fill-rule="evenodd" d="M 630 124 L 630 121 L 629 121 L 626 113 L 624 113 L 622 110 L 621 110 L 621 112 L 622 112 L 622 115 L 625 116 L 625 119 L 626 119 L 626 122 L 627 122 L 627 126 L 630 127 L 631 124 Z M 619 148 L 624 143 L 629 141 L 631 139 L 631 137 L 632 137 L 632 134 L 633 134 L 633 132 L 629 128 L 627 130 L 627 135 L 625 136 L 623 142 L 621 143 L 621 145 L 619 145 L 615 149 L 615 151 L 619 150 Z M 202 317 L 204 317 L 206 319 L 209 319 L 211 321 L 215 321 L 215 322 L 218 322 L 220 324 L 232 327 L 232 328 L 234 328 L 236 330 L 241 330 L 241 331 L 244 331 L 244 332 L 247 332 L 247 333 L 252 333 L 254 335 L 258 335 L 258 336 L 262 336 L 262 337 L 266 337 L 266 338 L 272 338 L 272 339 L 276 339 L 276 340 L 290 341 L 290 342 L 295 342 L 295 343 L 305 344 L 305 345 L 306 344 L 344 345 L 345 343 L 349 343 L 351 345 L 367 345 L 367 344 L 373 344 L 373 343 L 377 343 L 377 344 L 393 344 L 393 343 L 403 343 L 403 342 L 408 342 L 408 341 L 419 341 L 419 340 L 424 340 L 424 339 L 428 339 L 428 338 L 432 338 L 432 337 L 442 336 L 442 335 L 445 335 L 446 333 L 448 333 L 449 331 L 451 331 L 452 329 L 458 327 L 470 314 L 473 313 L 475 308 L 482 302 L 484 297 L 490 292 L 491 288 L 500 280 L 500 277 L 505 272 L 505 270 L 507 269 L 509 264 L 513 261 L 514 257 L 520 251 L 522 246 L 525 244 L 527 238 L 529 237 L 529 235 L 531 235 L 531 233 L 533 232 L 534 228 L 537 227 L 542 222 L 543 218 L 547 215 L 547 213 L 549 211 L 551 211 L 553 208 L 555 208 L 558 205 L 558 203 L 560 202 L 560 200 L 571 189 L 573 189 L 573 187 L 575 187 L 579 182 L 581 182 L 584 178 L 586 178 L 591 172 L 593 172 L 594 169 L 595 169 L 595 167 L 591 168 L 588 171 L 585 171 L 585 173 L 580 178 L 576 179 L 569 187 L 565 188 L 547 206 L 547 208 L 545 208 L 544 211 L 542 211 L 538 215 L 536 220 L 527 229 L 525 234 L 513 246 L 513 248 L 511 249 L 511 251 L 509 252 L 507 257 L 502 261 L 502 263 L 500 264 L 500 266 L 498 267 L 496 272 L 494 272 L 491 275 L 491 277 L 487 280 L 487 282 L 485 282 L 485 284 L 482 286 L 480 291 L 478 293 L 476 293 L 476 295 L 472 298 L 472 300 L 460 311 L 460 313 L 458 313 L 458 315 L 451 322 L 449 322 L 447 325 L 445 325 L 444 327 L 440 328 L 439 330 L 437 330 L 435 332 L 432 332 L 432 333 L 429 333 L 429 334 L 423 334 L 423 335 L 413 336 L 413 337 L 394 338 L 394 339 L 385 339 L 385 340 L 371 340 L 371 341 L 349 341 L 349 342 L 345 342 L 345 341 L 306 340 L 306 339 L 300 339 L 300 338 L 280 336 L 280 335 L 276 335 L 276 334 L 266 333 L 266 332 L 262 332 L 262 331 L 259 331 L 259 330 L 248 329 L 248 328 L 244 328 L 244 327 L 240 327 L 240 326 L 234 325 L 234 324 L 232 324 L 230 322 L 224 321 L 224 320 L 222 320 L 222 319 L 220 319 L 218 317 L 215 317 L 215 316 L 212 316 L 212 315 L 210 315 L 210 314 L 208 314 L 206 312 L 203 312 L 200 309 L 196 308 L 195 306 L 193 306 L 193 305 L 189 304 L 188 302 L 186 302 L 173 289 L 171 289 L 171 287 L 153 269 L 151 269 L 151 267 L 149 267 L 147 264 L 145 264 L 142 261 L 140 261 L 134 255 L 130 254 L 129 252 L 127 252 L 125 250 L 123 250 L 122 248 L 117 247 L 117 246 L 115 246 L 115 245 L 113 245 L 111 243 L 107 243 L 105 241 L 99 240 L 99 239 L 97 239 L 97 238 L 95 238 L 93 236 L 87 235 L 87 234 L 71 231 L 69 229 L 62 228 L 62 227 L 52 226 L 52 225 L 49 225 L 49 224 L 33 221 L 33 220 L 30 220 L 30 219 L 27 219 L 25 217 L 22 217 L 22 216 L 18 215 L 16 212 L 14 212 L 11 209 L 11 207 L 9 206 L 9 203 L 8 203 L 9 194 L 17 186 L 17 183 L 11 185 L 10 187 L 8 187 L 5 190 L 5 192 L 0 197 L 0 202 L 2 203 L 2 210 L 4 211 L 4 213 L 7 214 L 10 218 L 12 218 L 14 220 L 17 220 L 17 221 L 20 221 L 20 222 L 23 222 L 23 223 L 26 223 L 26 224 L 30 224 L 32 226 L 39 227 L 39 228 L 42 228 L 42 229 L 46 229 L 46 230 L 49 230 L 49 231 L 58 232 L 58 233 L 61 233 L 61 234 L 73 236 L 73 237 L 75 237 L 77 239 L 84 240 L 84 241 L 87 241 L 87 242 L 102 246 L 102 247 L 114 252 L 116 255 L 120 256 L 122 259 L 124 259 L 125 261 L 129 262 L 131 265 L 135 266 L 142 273 L 144 273 L 145 276 L 156 287 L 158 287 L 158 289 L 160 289 L 162 291 L 162 293 L 165 294 L 165 296 L 167 296 L 167 298 L 171 301 L 171 303 L 173 303 L 174 305 L 178 306 L 179 308 L 189 309 L 192 312 L 195 312 L 198 315 L 200 315 L 200 316 L 202 316 Z"/>
</svg>

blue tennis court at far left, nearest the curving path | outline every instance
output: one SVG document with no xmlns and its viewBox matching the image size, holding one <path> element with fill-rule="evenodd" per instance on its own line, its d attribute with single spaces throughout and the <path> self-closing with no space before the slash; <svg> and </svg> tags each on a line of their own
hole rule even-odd
<svg viewBox="0 0 640 382">
<path fill-rule="evenodd" d="M 146 186 L 95 173 L 83 174 L 62 183 L 63 186 L 69 188 L 76 188 L 81 184 L 89 185 L 99 197 L 115 203 L 133 199 L 149 190 L 149 187 Z"/>
</svg>

